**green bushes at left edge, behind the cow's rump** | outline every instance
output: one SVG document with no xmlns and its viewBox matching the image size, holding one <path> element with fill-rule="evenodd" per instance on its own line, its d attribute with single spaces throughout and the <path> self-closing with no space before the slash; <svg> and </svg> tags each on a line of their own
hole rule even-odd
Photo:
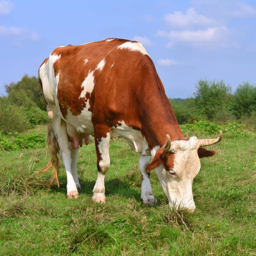
<svg viewBox="0 0 256 256">
<path fill-rule="evenodd" d="M 5 85 L 0 97 L 0 131 L 22 132 L 48 122 L 46 105 L 38 79 L 25 75 L 17 83 Z"/>
</svg>

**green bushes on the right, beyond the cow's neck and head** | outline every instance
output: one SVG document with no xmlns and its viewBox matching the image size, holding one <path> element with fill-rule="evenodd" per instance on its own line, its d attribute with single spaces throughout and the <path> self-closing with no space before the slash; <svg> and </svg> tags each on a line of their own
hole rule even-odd
<svg viewBox="0 0 256 256">
<path fill-rule="evenodd" d="M 234 93 L 224 81 L 199 80 L 193 98 L 170 99 L 179 124 L 198 120 L 256 122 L 256 87 L 239 84 Z"/>
</svg>

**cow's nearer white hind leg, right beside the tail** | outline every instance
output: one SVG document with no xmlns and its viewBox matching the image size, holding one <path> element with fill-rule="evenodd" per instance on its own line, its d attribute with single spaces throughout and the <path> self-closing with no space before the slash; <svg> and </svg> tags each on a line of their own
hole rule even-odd
<svg viewBox="0 0 256 256">
<path fill-rule="evenodd" d="M 49 111 L 49 106 L 47 110 Z M 53 111 L 53 116 L 50 122 L 52 125 L 55 138 L 58 140 L 61 159 L 67 173 L 67 198 L 77 198 L 78 191 L 76 188 L 75 180 L 72 175 L 72 169 L 71 169 L 72 158 L 71 158 L 69 140 L 67 136 L 66 123 L 54 111 Z"/>
</svg>

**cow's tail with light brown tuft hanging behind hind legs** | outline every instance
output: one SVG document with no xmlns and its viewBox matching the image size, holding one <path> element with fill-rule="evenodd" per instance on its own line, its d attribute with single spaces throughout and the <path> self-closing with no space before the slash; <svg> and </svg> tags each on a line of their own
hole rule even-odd
<svg viewBox="0 0 256 256">
<path fill-rule="evenodd" d="M 51 184 L 53 180 L 56 180 L 56 183 L 58 187 L 60 186 L 60 183 L 58 181 L 58 173 L 59 173 L 59 159 L 58 159 L 58 153 L 60 151 L 58 141 L 54 135 L 54 132 L 52 130 L 52 125 L 49 123 L 48 127 L 48 133 L 47 133 L 47 143 L 46 143 L 47 151 L 51 155 L 51 160 L 47 163 L 47 165 L 38 171 L 37 173 L 44 173 L 47 172 L 49 169 L 52 168 L 52 178 L 51 178 Z"/>
</svg>

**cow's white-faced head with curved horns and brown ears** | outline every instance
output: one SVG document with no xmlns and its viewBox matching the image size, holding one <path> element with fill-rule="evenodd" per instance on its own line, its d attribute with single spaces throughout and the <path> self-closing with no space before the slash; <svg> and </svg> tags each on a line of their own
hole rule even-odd
<svg viewBox="0 0 256 256">
<path fill-rule="evenodd" d="M 171 207 L 186 208 L 189 212 L 194 212 L 192 182 L 201 167 L 199 157 L 215 154 L 215 151 L 208 151 L 201 147 L 218 143 L 221 138 L 222 131 L 218 138 L 206 140 L 191 137 L 188 140 L 171 142 L 170 136 L 166 135 L 166 145 L 156 151 L 146 171 L 149 172 L 155 168 Z"/>
</svg>

